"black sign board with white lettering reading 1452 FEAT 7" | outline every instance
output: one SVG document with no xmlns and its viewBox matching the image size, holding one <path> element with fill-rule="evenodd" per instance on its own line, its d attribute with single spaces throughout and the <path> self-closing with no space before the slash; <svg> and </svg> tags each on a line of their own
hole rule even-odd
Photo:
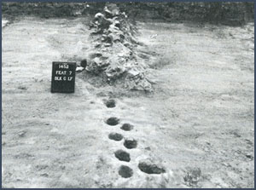
<svg viewBox="0 0 256 190">
<path fill-rule="evenodd" d="M 73 93 L 75 85 L 75 62 L 53 62 L 51 92 Z"/>
</svg>

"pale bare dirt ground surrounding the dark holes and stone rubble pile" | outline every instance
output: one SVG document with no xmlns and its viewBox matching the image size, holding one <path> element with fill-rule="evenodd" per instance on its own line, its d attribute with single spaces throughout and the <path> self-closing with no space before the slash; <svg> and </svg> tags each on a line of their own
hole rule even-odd
<svg viewBox="0 0 256 190">
<path fill-rule="evenodd" d="M 84 22 L 2 24 L 3 187 L 254 187 L 253 23 L 139 22 L 141 50 L 157 55 L 148 60 L 153 93 L 98 87 L 80 72 L 74 94 L 51 94 L 52 61 L 90 48 Z M 116 107 L 106 107 L 109 97 Z M 110 140 L 114 132 L 137 147 Z M 139 170 L 145 158 L 166 172 Z M 119 176 L 121 165 L 131 177 Z"/>
</svg>

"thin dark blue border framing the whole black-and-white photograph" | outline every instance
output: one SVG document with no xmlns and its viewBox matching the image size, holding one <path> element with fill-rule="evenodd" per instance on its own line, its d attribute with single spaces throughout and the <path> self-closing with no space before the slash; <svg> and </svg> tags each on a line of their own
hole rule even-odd
<svg viewBox="0 0 256 190">
<path fill-rule="evenodd" d="M 63 1 L 57 1 L 57 0 L 42 0 L 42 1 L 38 1 L 38 0 L 25 0 L 25 1 L 20 1 L 20 0 L 3 0 L 1 1 L 1 20 L 2 20 L 2 2 L 24 2 L 24 3 L 35 3 L 35 2 L 60 2 L 60 3 L 84 3 L 84 2 L 123 2 L 123 3 L 129 3 L 129 2 L 148 2 L 148 3 L 152 3 L 152 2 L 254 2 L 254 0 L 194 0 L 194 1 L 189 1 L 189 0 L 84 0 L 84 1 L 79 1 L 79 0 L 63 0 Z M 254 39 L 256 37 L 255 35 L 255 12 L 256 12 L 256 3 L 254 3 Z M 1 27 L 1 33 L 2 33 L 2 27 Z M 254 47 L 255 47 L 255 41 L 254 41 Z M 1 85 L 0 85 L 0 89 L 1 89 L 1 108 L 2 108 L 2 40 L 1 40 Z M 256 87 L 255 85 L 255 49 L 254 49 L 254 89 Z M 0 113 L 1 115 L 1 134 L 2 134 L 2 112 Z M 255 94 L 254 94 L 254 130 L 255 130 Z M 1 139 L 1 143 L 2 143 L 2 135 L 0 136 Z M 2 144 L 1 144 L 2 147 Z M 1 148 L 1 164 L 2 164 L 2 148 Z M 0 185 L 2 187 L 2 167 L 1 167 L 1 182 Z M 255 135 L 254 135 L 254 187 L 255 187 Z M 1 188 L 2 189 L 2 188 Z M 31 188 L 3 188 L 3 189 L 31 189 Z M 61 189 L 61 188 L 37 188 L 37 189 Z M 65 189 L 98 189 L 98 188 L 65 188 Z M 105 188 L 102 188 L 105 189 Z M 123 189 L 123 188 L 114 188 L 114 189 Z M 125 189 L 151 189 L 151 188 L 125 188 Z M 161 189 L 161 188 L 156 188 L 156 189 Z M 175 189 L 175 188 L 165 188 L 165 189 Z M 176 188 L 177 189 L 177 188 Z M 179 189 L 187 189 L 187 188 L 179 188 Z M 201 189 L 217 189 L 217 188 L 201 188 Z M 231 190 L 231 189 L 241 189 L 241 188 L 222 188 L 222 189 L 227 189 L 227 190 Z M 254 189 L 254 188 L 242 188 L 242 189 Z"/>
</svg>

